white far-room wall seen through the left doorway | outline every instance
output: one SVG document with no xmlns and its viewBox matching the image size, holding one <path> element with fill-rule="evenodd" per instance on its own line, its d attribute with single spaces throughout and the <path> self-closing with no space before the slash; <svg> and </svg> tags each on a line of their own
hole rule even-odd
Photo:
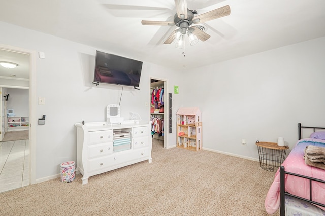
<svg viewBox="0 0 325 216">
<path fill-rule="evenodd" d="M 29 116 L 29 90 L 7 88 L 9 99 L 7 109 L 14 109 L 14 113 L 18 117 Z"/>
</svg>

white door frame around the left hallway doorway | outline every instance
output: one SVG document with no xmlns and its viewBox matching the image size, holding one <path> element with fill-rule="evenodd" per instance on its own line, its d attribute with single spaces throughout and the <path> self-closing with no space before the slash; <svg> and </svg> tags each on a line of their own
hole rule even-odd
<svg viewBox="0 0 325 216">
<path fill-rule="evenodd" d="M 0 49 L 12 52 L 20 52 L 29 55 L 29 184 L 36 184 L 36 51 L 21 47 L 0 44 Z M 28 88 L 21 86 L 6 86 L 4 88 Z"/>
</svg>

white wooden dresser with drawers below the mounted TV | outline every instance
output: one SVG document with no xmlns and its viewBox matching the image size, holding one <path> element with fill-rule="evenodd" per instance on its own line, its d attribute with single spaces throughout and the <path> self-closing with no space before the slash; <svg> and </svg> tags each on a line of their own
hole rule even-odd
<svg viewBox="0 0 325 216">
<path fill-rule="evenodd" d="M 88 178 L 140 161 L 152 162 L 151 122 L 124 121 L 118 125 L 106 122 L 76 123 L 77 170 Z"/>
</svg>

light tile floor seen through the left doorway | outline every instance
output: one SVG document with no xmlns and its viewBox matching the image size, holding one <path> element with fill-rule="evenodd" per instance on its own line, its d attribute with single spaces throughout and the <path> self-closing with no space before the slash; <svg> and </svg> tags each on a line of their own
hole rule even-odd
<svg viewBox="0 0 325 216">
<path fill-rule="evenodd" d="M 29 140 L 0 142 L 0 193 L 29 185 Z"/>
</svg>

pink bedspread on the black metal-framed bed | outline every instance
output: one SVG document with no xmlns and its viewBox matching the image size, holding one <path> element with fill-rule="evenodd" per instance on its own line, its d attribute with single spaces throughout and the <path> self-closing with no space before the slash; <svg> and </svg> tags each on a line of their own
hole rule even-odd
<svg viewBox="0 0 325 216">
<path fill-rule="evenodd" d="M 325 147 L 325 140 L 321 139 L 301 139 L 288 157 L 284 160 L 282 166 L 285 171 L 293 172 L 300 175 L 310 176 L 325 181 L 325 170 L 305 165 L 303 159 L 304 149 L 306 146 L 321 146 Z M 309 199 L 309 180 L 297 176 L 285 175 L 285 191 L 306 199 Z M 313 201 L 325 204 L 325 184 L 312 184 Z M 268 214 L 273 214 L 280 206 L 280 172 L 276 172 L 274 182 L 272 183 L 269 192 L 265 199 L 265 209 Z M 322 208 L 325 210 L 325 208 Z"/>
</svg>

